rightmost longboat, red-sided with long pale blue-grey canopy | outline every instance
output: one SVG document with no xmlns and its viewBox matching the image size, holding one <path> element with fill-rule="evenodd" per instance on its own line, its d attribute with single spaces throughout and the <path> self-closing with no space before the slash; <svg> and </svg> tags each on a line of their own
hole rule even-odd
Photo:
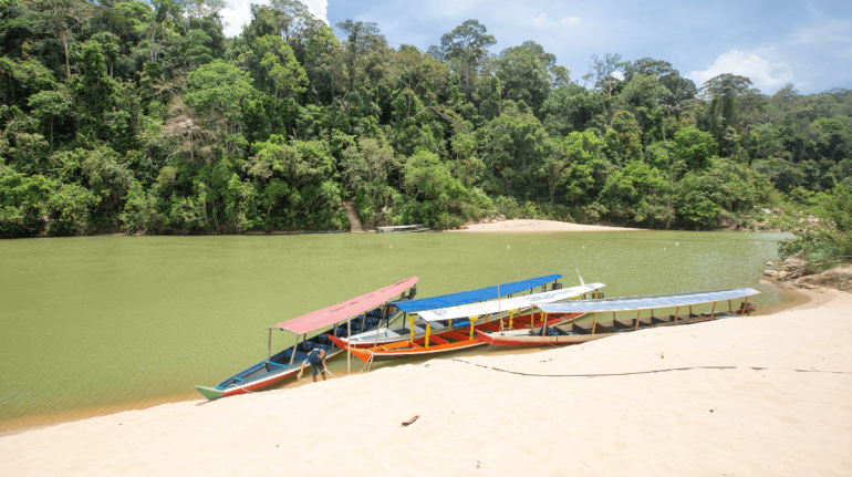
<svg viewBox="0 0 852 477">
<path fill-rule="evenodd" d="M 560 315 L 571 314 L 574 318 L 563 320 L 557 325 L 543 328 L 533 328 L 532 330 L 505 330 L 505 331 L 478 331 L 479 338 L 489 345 L 496 346 L 542 346 L 542 345 L 568 345 L 585 343 L 592 340 L 612 336 L 619 333 L 628 333 L 637 330 L 659 326 L 679 326 L 683 324 L 699 323 L 704 321 L 720 320 L 730 317 L 749 315 L 756 310 L 754 304 L 748 302 L 749 297 L 758 294 L 759 291 L 750 288 L 740 288 L 731 290 L 704 291 L 696 293 L 675 293 L 648 297 L 628 297 L 596 300 L 595 302 L 565 302 L 547 303 L 537 305 L 542 313 L 558 313 Z M 737 308 L 734 308 L 732 301 L 739 301 Z M 727 304 L 727 310 L 717 309 L 717 304 L 723 302 Z M 693 307 L 698 304 L 713 303 L 710 312 L 699 314 L 693 313 Z M 654 311 L 659 309 L 674 308 L 674 314 L 655 315 Z M 682 314 L 680 310 L 688 310 L 688 313 Z M 648 312 L 647 317 L 642 317 L 642 312 Z M 636 318 L 630 320 L 617 320 L 616 312 L 635 312 Z M 575 317 L 585 313 L 594 313 L 595 319 L 591 323 L 576 323 Z M 612 320 L 599 320 L 601 313 L 613 313 Z M 548 320 L 550 321 L 550 320 Z M 550 326 L 550 328 L 548 328 Z"/>
</svg>

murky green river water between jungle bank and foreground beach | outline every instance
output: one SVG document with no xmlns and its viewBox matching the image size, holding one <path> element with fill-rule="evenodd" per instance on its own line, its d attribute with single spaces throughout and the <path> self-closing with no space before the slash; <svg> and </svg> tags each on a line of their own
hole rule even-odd
<svg viewBox="0 0 852 477">
<path fill-rule="evenodd" d="M 0 241 L 0 431 L 200 397 L 267 326 L 420 278 L 418 298 L 549 273 L 606 297 L 752 287 L 781 234 L 613 231 Z M 393 247 L 392 247 L 393 246 Z M 292 344 L 276 332 L 274 350 Z M 334 369 L 345 359 L 336 359 Z M 334 370 L 332 369 L 332 370 Z M 336 372 L 335 372 L 336 374 Z"/>
</svg>

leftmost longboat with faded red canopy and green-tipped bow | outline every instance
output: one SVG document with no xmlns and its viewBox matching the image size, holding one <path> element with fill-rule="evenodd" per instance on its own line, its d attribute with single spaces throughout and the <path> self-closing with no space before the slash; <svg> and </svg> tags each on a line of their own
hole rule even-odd
<svg viewBox="0 0 852 477">
<path fill-rule="evenodd" d="M 387 302 L 397 295 L 404 295 L 406 290 L 414 288 L 417 280 L 419 280 L 417 277 L 407 278 L 389 287 L 269 326 L 269 348 L 266 360 L 240 371 L 215 387 L 196 386 L 196 390 L 211 401 L 245 394 L 294 375 L 301 369 L 302 362 L 311 350 L 325 350 L 325 359 L 328 360 L 343 350 L 335 346 L 326 338 L 329 333 L 321 333 L 306 339 L 308 333 L 333 326 L 330 330 L 331 335 L 351 336 L 353 326 L 364 330 L 381 328 L 383 323 L 386 324 L 392 319 L 393 310 L 388 309 L 395 309 Z M 294 333 L 297 335 L 295 344 L 272 355 L 273 330 L 287 330 Z"/>
</svg>

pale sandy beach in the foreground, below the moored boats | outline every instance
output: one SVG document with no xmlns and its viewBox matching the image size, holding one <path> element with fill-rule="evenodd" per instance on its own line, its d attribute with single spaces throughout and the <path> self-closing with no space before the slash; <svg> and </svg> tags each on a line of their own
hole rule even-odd
<svg viewBox="0 0 852 477">
<path fill-rule="evenodd" d="M 849 476 L 852 295 L 837 294 L 775 315 L 464 357 L 539 374 L 735 370 L 533 377 L 438 359 L 8 435 L 0 474 Z"/>
</svg>

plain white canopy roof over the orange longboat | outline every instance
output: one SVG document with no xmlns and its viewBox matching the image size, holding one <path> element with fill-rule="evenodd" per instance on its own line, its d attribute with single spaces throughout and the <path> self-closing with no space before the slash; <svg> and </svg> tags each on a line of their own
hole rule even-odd
<svg viewBox="0 0 852 477">
<path fill-rule="evenodd" d="M 435 310 L 423 310 L 417 312 L 417 314 L 425 321 L 455 320 L 458 318 L 498 313 L 500 311 L 507 310 L 527 309 L 538 303 L 550 303 L 559 300 L 568 300 L 583 293 L 593 292 L 594 290 L 603 287 L 603 283 L 582 284 L 580 287 L 563 288 L 561 290 L 544 291 L 541 293 L 527 294 L 523 297 L 490 300 L 480 303 L 463 304 L 459 307 L 438 308 Z"/>
</svg>

